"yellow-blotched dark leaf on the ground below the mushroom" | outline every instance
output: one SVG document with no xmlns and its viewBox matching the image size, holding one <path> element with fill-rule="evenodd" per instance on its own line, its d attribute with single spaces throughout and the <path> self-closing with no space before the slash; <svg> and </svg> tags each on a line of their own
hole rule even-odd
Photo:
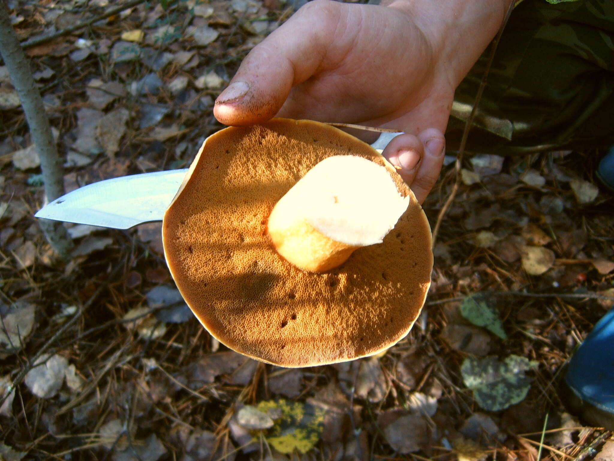
<svg viewBox="0 0 614 461">
<path fill-rule="evenodd" d="M 306 453 L 319 441 L 324 430 L 324 409 L 308 403 L 268 400 L 257 409 L 273 417 L 274 426 L 264 432 L 266 441 L 285 454 L 298 450 Z M 257 438 L 255 438 L 257 440 Z"/>
</svg>

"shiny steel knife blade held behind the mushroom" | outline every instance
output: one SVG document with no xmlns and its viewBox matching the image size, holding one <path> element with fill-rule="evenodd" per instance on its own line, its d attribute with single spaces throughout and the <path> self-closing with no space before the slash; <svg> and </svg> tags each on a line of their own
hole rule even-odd
<svg viewBox="0 0 614 461">
<path fill-rule="evenodd" d="M 402 134 L 381 133 L 371 147 L 383 151 L 392 138 Z M 62 195 L 34 216 L 113 229 L 162 221 L 187 171 L 182 168 L 98 181 Z"/>
</svg>

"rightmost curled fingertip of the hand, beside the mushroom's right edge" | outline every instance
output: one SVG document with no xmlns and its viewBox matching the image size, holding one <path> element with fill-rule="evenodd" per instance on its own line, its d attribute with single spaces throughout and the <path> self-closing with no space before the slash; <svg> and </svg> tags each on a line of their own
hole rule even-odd
<svg viewBox="0 0 614 461">
<path fill-rule="evenodd" d="M 429 128 L 418 135 L 424 145 L 424 156 L 410 184 L 419 203 L 424 202 L 430 190 L 435 186 L 443 165 L 446 140 L 440 130 Z"/>
</svg>

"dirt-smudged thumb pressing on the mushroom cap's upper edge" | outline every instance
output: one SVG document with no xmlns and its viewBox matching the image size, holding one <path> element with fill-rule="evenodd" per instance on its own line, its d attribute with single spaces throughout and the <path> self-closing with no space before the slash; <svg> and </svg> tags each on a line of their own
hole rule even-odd
<svg viewBox="0 0 614 461">
<path fill-rule="evenodd" d="M 336 2 L 309 2 L 247 55 L 217 98 L 214 115 L 226 125 L 249 125 L 273 117 L 293 85 L 326 58 L 339 23 Z"/>
</svg>

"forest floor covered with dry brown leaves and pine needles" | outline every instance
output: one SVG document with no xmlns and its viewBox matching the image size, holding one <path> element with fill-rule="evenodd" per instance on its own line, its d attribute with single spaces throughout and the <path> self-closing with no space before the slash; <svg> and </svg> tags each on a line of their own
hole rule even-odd
<svg viewBox="0 0 614 461">
<path fill-rule="evenodd" d="M 7 5 L 23 41 L 116 6 Z M 217 94 L 292 12 L 278 0 L 141 2 L 28 46 L 67 191 L 187 167 L 221 128 Z M 56 258 L 33 217 L 39 162 L 0 66 L 0 459 L 614 459 L 612 434 L 558 393 L 614 300 L 600 154 L 446 165 L 424 204 L 432 226 L 455 181 L 459 191 L 410 334 L 376 357 L 283 369 L 201 327 L 166 267 L 160 223 L 67 224 L 75 249 Z"/>
</svg>

